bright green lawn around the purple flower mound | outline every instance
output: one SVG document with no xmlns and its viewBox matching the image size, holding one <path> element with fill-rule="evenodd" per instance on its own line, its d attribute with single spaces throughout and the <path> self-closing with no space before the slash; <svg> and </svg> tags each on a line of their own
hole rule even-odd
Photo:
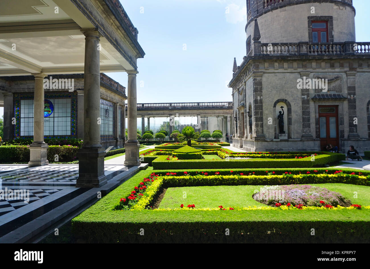
<svg viewBox="0 0 370 269">
<path fill-rule="evenodd" d="M 370 205 L 370 187 L 342 183 L 312 184 L 343 194 L 353 204 Z M 196 208 L 267 206 L 252 198 L 260 185 L 199 186 L 168 188 L 159 208 L 178 208 L 181 204 L 195 204 Z M 186 192 L 186 196 L 185 193 Z M 357 192 L 357 198 L 354 198 Z M 186 198 L 184 198 L 186 197 Z"/>
</svg>

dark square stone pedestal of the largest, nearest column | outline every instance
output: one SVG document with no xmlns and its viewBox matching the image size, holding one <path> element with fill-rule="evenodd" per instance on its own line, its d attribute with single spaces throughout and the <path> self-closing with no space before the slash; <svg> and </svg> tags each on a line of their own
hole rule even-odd
<svg viewBox="0 0 370 269">
<path fill-rule="evenodd" d="M 78 178 L 76 187 L 95 188 L 107 183 L 104 174 L 105 151 L 100 148 L 81 148 L 78 153 Z"/>
</svg>

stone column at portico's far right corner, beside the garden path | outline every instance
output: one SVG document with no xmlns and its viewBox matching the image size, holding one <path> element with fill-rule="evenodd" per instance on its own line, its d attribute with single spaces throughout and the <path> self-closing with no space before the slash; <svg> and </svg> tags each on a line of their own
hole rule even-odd
<svg viewBox="0 0 370 269">
<path fill-rule="evenodd" d="M 126 156 L 125 165 L 137 166 L 139 160 L 139 142 L 137 140 L 137 99 L 136 99 L 136 70 L 126 71 L 128 74 L 127 83 L 127 143 L 125 144 Z"/>
</svg>

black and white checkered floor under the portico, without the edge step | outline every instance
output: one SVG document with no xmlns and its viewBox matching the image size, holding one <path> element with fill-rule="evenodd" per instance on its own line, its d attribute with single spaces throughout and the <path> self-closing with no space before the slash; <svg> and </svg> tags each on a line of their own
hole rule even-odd
<svg viewBox="0 0 370 269">
<path fill-rule="evenodd" d="M 126 170 L 124 165 L 104 166 L 107 180 Z M 0 164 L 0 237 L 2 227 L 16 227 L 20 219 L 33 219 L 35 212 L 52 210 L 90 189 L 76 188 L 77 178 L 78 164 Z"/>
</svg>

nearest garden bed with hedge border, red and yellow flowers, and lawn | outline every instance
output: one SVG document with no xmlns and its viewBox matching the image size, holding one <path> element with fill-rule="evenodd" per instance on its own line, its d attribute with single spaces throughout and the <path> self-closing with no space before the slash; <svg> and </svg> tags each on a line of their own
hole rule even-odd
<svg viewBox="0 0 370 269">
<path fill-rule="evenodd" d="M 228 170 L 228 174 L 227 170 L 148 168 L 74 218 L 73 231 L 86 242 L 366 242 L 370 236 L 369 174 L 350 169 L 298 170 L 244 169 Z M 292 183 L 314 184 L 336 191 L 351 203 L 361 204 L 361 210 L 356 206 L 273 207 L 252 198 L 258 187 Z M 144 185 L 145 191 L 140 190 Z M 159 208 L 145 209 L 150 208 L 161 188 L 174 188 L 176 194 L 168 192 Z M 214 195 L 215 191 L 219 195 Z M 358 198 L 352 198 L 354 192 Z M 128 199 L 129 196 L 136 198 Z M 248 197 L 248 201 L 241 202 L 240 196 Z M 173 208 L 161 208 L 171 200 Z M 220 205 L 226 210 L 220 210 Z M 311 235 L 312 228 L 315 236 Z M 229 236 L 225 236 L 225 231 Z"/>
</svg>

